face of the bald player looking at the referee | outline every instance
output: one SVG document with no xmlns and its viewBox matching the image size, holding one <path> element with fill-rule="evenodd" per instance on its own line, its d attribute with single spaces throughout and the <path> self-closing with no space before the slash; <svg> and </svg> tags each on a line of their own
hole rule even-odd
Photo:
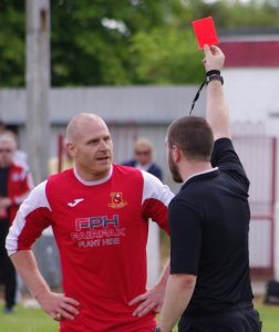
<svg viewBox="0 0 279 332">
<path fill-rule="evenodd" d="M 89 122 L 79 133 L 72 156 L 78 169 L 87 180 L 106 177 L 112 166 L 113 144 L 102 121 Z"/>
</svg>

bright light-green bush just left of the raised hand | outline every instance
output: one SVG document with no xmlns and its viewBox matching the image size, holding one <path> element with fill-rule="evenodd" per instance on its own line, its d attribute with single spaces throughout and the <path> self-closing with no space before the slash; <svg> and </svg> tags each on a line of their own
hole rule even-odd
<svg viewBox="0 0 279 332">
<path fill-rule="evenodd" d="M 193 32 L 175 27 L 154 28 L 132 39 L 137 83 L 196 83 L 204 77 L 203 53 Z"/>
</svg>

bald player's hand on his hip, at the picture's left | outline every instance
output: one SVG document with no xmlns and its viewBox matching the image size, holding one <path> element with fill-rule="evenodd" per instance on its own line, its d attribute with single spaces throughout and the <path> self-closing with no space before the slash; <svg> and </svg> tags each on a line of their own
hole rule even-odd
<svg viewBox="0 0 279 332">
<path fill-rule="evenodd" d="M 37 300 L 42 309 L 55 321 L 61 319 L 73 320 L 79 314 L 76 307 L 80 303 L 64 294 L 49 291 L 38 295 Z"/>
</svg>

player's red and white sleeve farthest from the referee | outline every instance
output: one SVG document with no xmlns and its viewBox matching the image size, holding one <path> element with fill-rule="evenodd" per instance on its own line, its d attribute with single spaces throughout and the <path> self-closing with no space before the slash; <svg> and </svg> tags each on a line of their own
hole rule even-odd
<svg viewBox="0 0 279 332">
<path fill-rule="evenodd" d="M 46 180 L 22 203 L 6 239 L 8 255 L 30 250 L 43 229 L 51 225 L 51 208 L 45 195 Z"/>
</svg>

